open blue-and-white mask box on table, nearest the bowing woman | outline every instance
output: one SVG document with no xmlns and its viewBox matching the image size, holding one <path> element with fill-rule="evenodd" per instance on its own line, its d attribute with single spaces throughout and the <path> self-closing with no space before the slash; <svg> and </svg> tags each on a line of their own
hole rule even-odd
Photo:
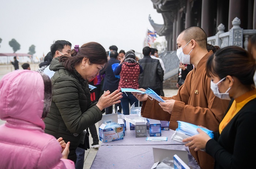
<svg viewBox="0 0 256 169">
<path fill-rule="evenodd" d="M 108 127 L 108 123 L 115 125 Z M 103 115 L 99 123 L 99 140 L 102 142 L 110 142 L 124 139 L 124 127 L 117 123 L 117 114 Z"/>
</svg>

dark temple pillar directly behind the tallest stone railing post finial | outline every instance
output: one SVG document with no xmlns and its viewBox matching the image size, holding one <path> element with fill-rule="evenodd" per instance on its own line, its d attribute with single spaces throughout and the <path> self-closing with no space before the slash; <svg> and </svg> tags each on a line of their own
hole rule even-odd
<svg viewBox="0 0 256 169">
<path fill-rule="evenodd" d="M 232 20 L 234 18 L 241 18 L 241 0 L 229 0 L 229 27 L 230 30 L 232 26 Z"/>
</svg>

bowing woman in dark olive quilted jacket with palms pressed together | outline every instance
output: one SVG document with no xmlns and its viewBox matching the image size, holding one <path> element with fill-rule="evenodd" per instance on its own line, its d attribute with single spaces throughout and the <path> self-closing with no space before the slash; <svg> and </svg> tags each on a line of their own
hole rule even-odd
<svg viewBox="0 0 256 169">
<path fill-rule="evenodd" d="M 82 132 L 102 118 L 102 110 L 120 103 L 122 93 L 106 91 L 98 102 L 92 104 L 88 81 L 99 75 L 108 62 L 106 51 L 99 43 L 89 42 L 75 46 L 71 56 L 54 58 L 50 70 L 56 71 L 51 78 L 52 104 L 45 118 L 45 132 L 56 138 L 70 141 L 68 159 L 76 162 L 76 148 Z"/>
</svg>

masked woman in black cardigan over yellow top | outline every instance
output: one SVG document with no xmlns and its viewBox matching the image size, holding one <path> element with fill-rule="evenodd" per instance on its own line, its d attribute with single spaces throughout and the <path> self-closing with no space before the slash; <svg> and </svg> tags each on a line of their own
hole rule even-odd
<svg viewBox="0 0 256 169">
<path fill-rule="evenodd" d="M 214 139 L 197 129 L 199 134 L 183 141 L 195 151 L 205 149 L 215 158 L 215 168 L 255 168 L 256 147 L 251 144 L 256 130 L 255 70 L 252 55 L 237 46 L 220 49 L 207 61 L 212 91 L 221 99 L 231 99 L 230 105 Z"/>
</svg>

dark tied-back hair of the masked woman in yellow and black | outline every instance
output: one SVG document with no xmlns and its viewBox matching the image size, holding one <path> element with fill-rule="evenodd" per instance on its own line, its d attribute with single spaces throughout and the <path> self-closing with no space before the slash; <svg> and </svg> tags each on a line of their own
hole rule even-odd
<svg viewBox="0 0 256 169">
<path fill-rule="evenodd" d="M 238 46 L 227 46 L 212 54 L 206 64 L 206 74 L 218 76 L 234 76 L 244 85 L 252 85 L 256 64 L 251 54 Z"/>
</svg>

